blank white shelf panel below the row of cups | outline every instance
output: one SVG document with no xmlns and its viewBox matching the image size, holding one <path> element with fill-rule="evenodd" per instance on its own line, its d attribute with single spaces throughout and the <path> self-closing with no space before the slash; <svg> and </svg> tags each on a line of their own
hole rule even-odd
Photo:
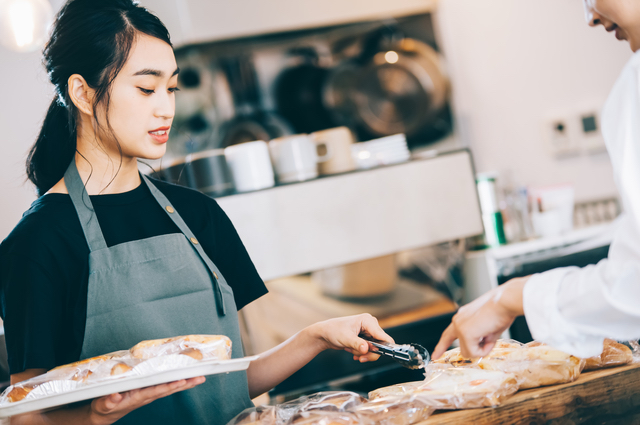
<svg viewBox="0 0 640 425">
<path fill-rule="evenodd" d="M 217 201 L 264 280 L 483 232 L 468 150 Z"/>
</svg>

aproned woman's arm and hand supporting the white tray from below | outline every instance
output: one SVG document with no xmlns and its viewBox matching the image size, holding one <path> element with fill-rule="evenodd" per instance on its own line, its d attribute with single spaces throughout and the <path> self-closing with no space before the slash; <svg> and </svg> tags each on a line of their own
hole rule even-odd
<svg viewBox="0 0 640 425">
<path fill-rule="evenodd" d="M 11 375 L 11 384 L 41 375 L 44 369 L 27 369 Z M 156 385 L 148 388 L 111 394 L 91 403 L 71 409 L 57 409 L 46 413 L 34 412 L 11 418 L 11 425 L 110 425 L 127 413 L 178 391 L 188 390 L 204 382 L 204 377 Z"/>
</svg>

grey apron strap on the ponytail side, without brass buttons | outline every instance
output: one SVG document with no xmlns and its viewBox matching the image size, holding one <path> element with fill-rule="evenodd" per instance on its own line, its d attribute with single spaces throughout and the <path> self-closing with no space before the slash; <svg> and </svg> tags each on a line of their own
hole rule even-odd
<svg viewBox="0 0 640 425">
<path fill-rule="evenodd" d="M 64 184 L 67 187 L 67 192 L 69 192 L 76 213 L 78 213 L 82 232 L 89 245 L 89 251 L 93 252 L 106 248 L 107 242 L 102 235 L 102 230 L 100 229 L 100 224 L 98 223 L 98 218 L 96 217 L 87 189 L 84 187 L 84 183 L 78 173 L 75 158 L 71 161 L 67 171 L 64 173 Z"/>
</svg>

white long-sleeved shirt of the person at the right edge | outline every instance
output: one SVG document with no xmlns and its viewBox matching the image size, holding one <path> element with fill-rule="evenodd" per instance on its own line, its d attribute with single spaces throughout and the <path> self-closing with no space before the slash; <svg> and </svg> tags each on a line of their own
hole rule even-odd
<svg viewBox="0 0 640 425">
<path fill-rule="evenodd" d="M 625 211 L 609 258 L 533 275 L 523 295 L 533 338 L 580 357 L 600 354 L 605 337 L 640 338 L 640 52 L 613 86 L 602 133 Z"/>
</svg>

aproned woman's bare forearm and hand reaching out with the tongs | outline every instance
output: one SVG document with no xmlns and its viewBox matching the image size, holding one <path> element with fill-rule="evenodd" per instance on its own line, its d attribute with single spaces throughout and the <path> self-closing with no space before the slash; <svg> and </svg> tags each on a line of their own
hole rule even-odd
<svg viewBox="0 0 640 425">
<path fill-rule="evenodd" d="M 362 363 L 377 360 L 379 356 L 369 353 L 369 343 L 358 337 L 360 333 L 393 342 L 370 314 L 315 323 L 251 363 L 247 370 L 249 395 L 254 398 L 269 391 L 329 348 L 348 351 Z"/>
</svg>

